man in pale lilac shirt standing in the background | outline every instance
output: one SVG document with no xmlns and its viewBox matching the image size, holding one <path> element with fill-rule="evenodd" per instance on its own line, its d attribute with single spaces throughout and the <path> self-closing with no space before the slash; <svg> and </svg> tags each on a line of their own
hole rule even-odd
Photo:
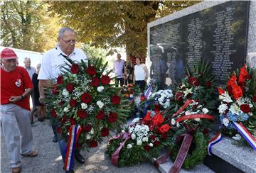
<svg viewBox="0 0 256 173">
<path fill-rule="evenodd" d="M 117 77 L 114 79 L 115 86 L 118 87 L 124 85 L 124 60 L 121 59 L 121 54 L 117 53 L 117 60 L 114 61 L 114 75 Z"/>
</svg>

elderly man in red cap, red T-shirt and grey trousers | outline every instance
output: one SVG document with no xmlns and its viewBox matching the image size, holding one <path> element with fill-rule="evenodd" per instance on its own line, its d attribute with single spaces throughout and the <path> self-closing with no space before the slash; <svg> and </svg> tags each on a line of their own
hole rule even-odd
<svg viewBox="0 0 256 173">
<path fill-rule="evenodd" d="M 1 52 L 1 124 L 13 173 L 21 172 L 20 155 L 37 155 L 32 151 L 28 99 L 33 84 L 26 69 L 16 66 L 17 58 L 9 48 Z"/>
</svg>

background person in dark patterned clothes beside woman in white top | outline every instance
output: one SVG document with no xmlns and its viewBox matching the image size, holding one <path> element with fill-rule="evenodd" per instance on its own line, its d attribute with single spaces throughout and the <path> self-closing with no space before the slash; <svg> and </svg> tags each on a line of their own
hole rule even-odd
<svg viewBox="0 0 256 173">
<path fill-rule="evenodd" d="M 124 84 L 131 84 L 134 77 L 134 65 L 131 57 L 127 57 L 127 61 L 124 63 Z"/>
</svg>

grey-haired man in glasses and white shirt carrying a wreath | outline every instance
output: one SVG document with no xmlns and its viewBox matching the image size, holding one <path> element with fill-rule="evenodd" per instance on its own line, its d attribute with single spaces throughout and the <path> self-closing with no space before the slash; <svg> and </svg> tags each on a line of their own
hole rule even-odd
<svg viewBox="0 0 256 173">
<path fill-rule="evenodd" d="M 40 98 L 39 101 L 43 102 L 45 95 L 43 92 L 44 87 L 53 86 L 54 84 L 51 84 L 49 79 L 56 79 L 60 72 L 60 65 L 63 65 L 65 62 L 68 62 L 66 60 L 67 58 L 70 58 L 73 61 L 80 60 L 87 60 L 87 56 L 85 53 L 75 48 L 75 31 L 68 27 L 60 28 L 59 34 L 58 34 L 58 45 L 56 48 L 53 48 L 51 50 L 48 50 L 43 55 L 42 63 L 41 63 L 41 70 L 38 74 L 39 79 L 39 92 L 40 92 Z M 53 133 L 55 134 L 55 138 L 53 138 L 53 142 L 57 142 L 57 132 L 56 132 L 56 125 L 53 125 Z M 63 157 L 63 160 L 65 158 L 65 155 L 63 155 L 63 140 L 61 140 L 58 136 L 58 142 L 60 146 L 60 152 Z M 78 150 L 75 150 L 75 159 L 83 163 L 85 162 L 85 159 L 80 155 L 80 152 Z M 73 172 L 67 171 L 67 172 Z"/>
</svg>

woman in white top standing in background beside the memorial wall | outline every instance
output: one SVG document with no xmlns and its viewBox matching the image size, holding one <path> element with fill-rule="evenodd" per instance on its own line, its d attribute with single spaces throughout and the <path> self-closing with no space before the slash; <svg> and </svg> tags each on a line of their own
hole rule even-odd
<svg viewBox="0 0 256 173">
<path fill-rule="evenodd" d="M 139 85 L 141 91 L 144 91 L 146 86 L 146 79 L 148 78 L 148 69 L 146 65 L 142 64 L 140 57 L 136 58 L 137 65 L 134 66 L 134 82 L 135 85 Z"/>
</svg>

